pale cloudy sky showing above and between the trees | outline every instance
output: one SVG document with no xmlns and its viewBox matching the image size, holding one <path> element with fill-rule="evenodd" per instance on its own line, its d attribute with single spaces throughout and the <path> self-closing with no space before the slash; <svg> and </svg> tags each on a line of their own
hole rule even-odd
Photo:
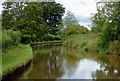
<svg viewBox="0 0 120 81">
<path fill-rule="evenodd" d="M 0 14 L 2 12 L 2 5 L 5 0 L 0 0 Z M 75 17 L 79 20 L 79 24 L 87 28 L 91 24 L 89 20 L 91 14 L 96 13 L 96 0 L 55 0 L 57 3 L 62 4 L 67 10 L 74 13 Z M 65 13 L 66 14 L 66 13 Z M 89 28 L 90 29 L 90 28 Z"/>
</svg>

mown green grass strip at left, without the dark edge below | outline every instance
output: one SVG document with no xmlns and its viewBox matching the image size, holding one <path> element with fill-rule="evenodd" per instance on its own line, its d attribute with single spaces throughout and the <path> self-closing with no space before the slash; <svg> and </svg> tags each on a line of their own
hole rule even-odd
<svg viewBox="0 0 120 81">
<path fill-rule="evenodd" d="M 18 45 L 2 56 L 2 75 L 14 71 L 32 59 L 32 48 L 29 45 Z"/>
</svg>

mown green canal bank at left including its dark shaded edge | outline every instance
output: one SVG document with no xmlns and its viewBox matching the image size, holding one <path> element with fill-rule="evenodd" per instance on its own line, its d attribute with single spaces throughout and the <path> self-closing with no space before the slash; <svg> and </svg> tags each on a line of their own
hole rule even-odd
<svg viewBox="0 0 120 81">
<path fill-rule="evenodd" d="M 9 79 L 27 68 L 32 61 L 32 48 L 29 45 L 18 45 L 2 56 L 2 80 Z"/>
</svg>

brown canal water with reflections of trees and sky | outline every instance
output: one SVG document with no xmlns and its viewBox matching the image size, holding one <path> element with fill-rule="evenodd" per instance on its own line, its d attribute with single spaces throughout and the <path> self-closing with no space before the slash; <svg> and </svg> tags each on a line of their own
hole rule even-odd
<svg viewBox="0 0 120 81">
<path fill-rule="evenodd" d="M 34 46 L 32 64 L 17 79 L 120 79 L 120 56 L 62 45 Z"/>
</svg>

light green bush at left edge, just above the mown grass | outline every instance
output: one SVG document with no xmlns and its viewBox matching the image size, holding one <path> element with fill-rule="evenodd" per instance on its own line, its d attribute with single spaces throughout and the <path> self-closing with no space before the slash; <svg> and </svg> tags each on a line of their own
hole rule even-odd
<svg viewBox="0 0 120 81">
<path fill-rule="evenodd" d="M 8 48 L 10 46 L 18 45 L 21 41 L 21 32 L 13 30 L 2 31 L 2 48 Z"/>
</svg>

